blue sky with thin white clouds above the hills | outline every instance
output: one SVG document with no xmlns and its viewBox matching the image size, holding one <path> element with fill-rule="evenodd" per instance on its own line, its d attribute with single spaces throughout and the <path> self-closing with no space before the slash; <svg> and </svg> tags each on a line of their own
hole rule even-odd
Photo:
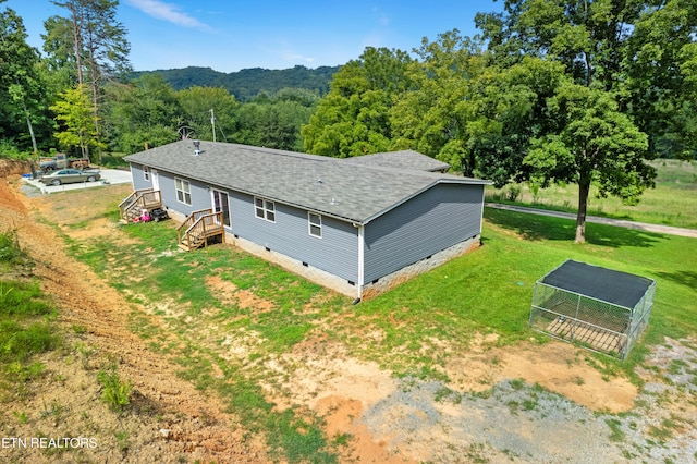
<svg viewBox="0 0 697 464">
<path fill-rule="evenodd" d="M 50 0 L 8 0 L 24 20 L 29 45 L 41 49 L 44 21 L 68 11 Z M 136 71 L 208 66 L 288 69 L 344 64 L 366 47 L 412 51 L 424 37 L 457 28 L 475 35 L 475 14 L 499 11 L 494 0 L 120 0 Z"/>
</svg>

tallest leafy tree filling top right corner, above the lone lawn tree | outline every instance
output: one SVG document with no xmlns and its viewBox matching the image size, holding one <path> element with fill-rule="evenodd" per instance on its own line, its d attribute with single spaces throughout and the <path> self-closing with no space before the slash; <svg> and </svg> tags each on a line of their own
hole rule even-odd
<svg viewBox="0 0 697 464">
<path fill-rule="evenodd" d="M 554 60 L 576 83 L 612 93 L 649 136 L 651 156 L 697 149 L 684 73 L 695 56 L 697 0 L 506 0 L 501 13 L 479 13 L 476 23 L 498 63 Z"/>
</svg>

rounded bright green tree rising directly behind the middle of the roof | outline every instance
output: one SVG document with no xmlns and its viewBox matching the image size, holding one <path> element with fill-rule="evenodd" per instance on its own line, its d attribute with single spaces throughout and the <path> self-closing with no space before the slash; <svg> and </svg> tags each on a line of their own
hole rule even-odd
<svg viewBox="0 0 697 464">
<path fill-rule="evenodd" d="M 409 87 L 407 53 L 366 48 L 334 74 L 329 93 L 301 130 L 305 150 L 346 158 L 387 151 L 392 142 L 389 110 Z"/>
</svg>

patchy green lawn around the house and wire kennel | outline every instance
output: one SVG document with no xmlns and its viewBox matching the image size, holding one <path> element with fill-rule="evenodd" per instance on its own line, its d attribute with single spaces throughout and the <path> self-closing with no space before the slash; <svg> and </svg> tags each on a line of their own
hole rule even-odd
<svg viewBox="0 0 697 464">
<path fill-rule="evenodd" d="M 117 215 L 112 208 L 114 222 Z M 262 431 L 272 453 L 290 462 L 333 462 L 339 438 L 325 437 L 321 419 L 311 412 L 274 408 L 265 393 L 265 384 L 273 381 L 265 365 L 319 335 L 398 376 L 447 380 L 442 366 L 448 354 L 439 347 L 443 342 L 467 350 L 476 333 L 497 333 L 501 345 L 530 338 L 543 343 L 527 327 L 533 286 L 570 258 L 658 282 L 643 341 L 625 363 L 603 357 L 610 370 L 638 381 L 634 367 L 647 346 L 697 330 L 696 240 L 590 223 L 588 242 L 577 245 L 571 220 L 494 209 L 486 209 L 485 219 L 481 248 L 356 306 L 234 247 L 176 253 L 171 221 L 123 227 L 132 239 L 126 242 L 101 237 L 69 244 L 75 256 L 161 320 L 155 327 L 142 310 L 131 314 L 132 330 L 151 350 L 170 356 L 198 389 L 224 399 L 248 430 Z M 211 277 L 221 288 L 247 292 L 254 304 L 211 291 Z M 376 331 L 383 337 L 367 342 L 365 334 Z M 236 361 L 221 357 L 225 334 L 254 335 L 248 353 Z M 213 376 L 213 365 L 220 366 L 222 378 Z"/>
</svg>

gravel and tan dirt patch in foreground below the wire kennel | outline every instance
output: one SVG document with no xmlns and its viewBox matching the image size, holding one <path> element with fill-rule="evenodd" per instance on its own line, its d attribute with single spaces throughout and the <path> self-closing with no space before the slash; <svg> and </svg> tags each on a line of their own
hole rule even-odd
<svg viewBox="0 0 697 464">
<path fill-rule="evenodd" d="M 622 414 L 518 380 L 463 394 L 405 378 L 360 420 L 376 441 L 421 462 L 697 462 L 697 344 L 668 339 L 645 366 L 635 406 Z"/>
</svg>

